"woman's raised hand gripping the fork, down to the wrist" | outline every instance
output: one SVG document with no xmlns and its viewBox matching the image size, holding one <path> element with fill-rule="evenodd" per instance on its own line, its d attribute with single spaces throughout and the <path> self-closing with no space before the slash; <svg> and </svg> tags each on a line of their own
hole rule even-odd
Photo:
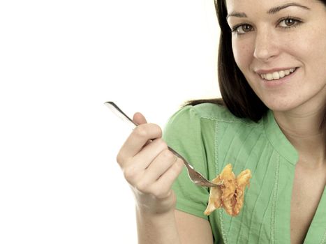
<svg viewBox="0 0 326 244">
<path fill-rule="evenodd" d="M 171 186 L 183 167 L 183 162 L 168 150 L 158 125 L 147 123 L 136 113 L 138 126 L 121 147 L 117 162 L 131 185 L 138 210 L 143 213 L 166 213 L 175 208 Z"/>
</svg>

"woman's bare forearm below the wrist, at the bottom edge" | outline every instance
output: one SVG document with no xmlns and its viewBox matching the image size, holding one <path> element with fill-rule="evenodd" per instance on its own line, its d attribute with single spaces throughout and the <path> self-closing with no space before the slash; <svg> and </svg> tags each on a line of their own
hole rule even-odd
<svg viewBox="0 0 326 244">
<path fill-rule="evenodd" d="M 145 213 L 136 209 L 139 244 L 179 244 L 175 211 Z"/>
</svg>

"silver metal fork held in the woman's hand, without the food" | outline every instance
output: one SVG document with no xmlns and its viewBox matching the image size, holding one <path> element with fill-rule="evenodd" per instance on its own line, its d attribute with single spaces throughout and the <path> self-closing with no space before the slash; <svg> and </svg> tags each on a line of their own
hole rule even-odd
<svg viewBox="0 0 326 244">
<path fill-rule="evenodd" d="M 134 123 L 132 119 L 130 119 L 117 105 L 115 105 L 114 102 L 104 102 L 104 104 L 115 114 L 117 115 L 120 119 L 123 121 L 129 123 L 132 128 L 135 128 L 138 126 L 138 124 Z M 216 186 L 221 186 L 221 183 L 215 184 L 212 183 L 211 181 L 208 181 L 207 178 L 202 176 L 198 171 L 195 171 L 193 166 L 184 158 L 182 157 L 177 151 L 175 151 L 173 148 L 170 148 L 168 146 L 169 150 L 174 153 L 178 158 L 181 158 L 181 160 L 184 161 L 184 165 L 186 165 L 186 168 L 188 170 L 188 176 L 195 183 L 196 185 L 204 186 L 204 187 L 209 187 L 209 188 L 214 188 Z"/>
</svg>

